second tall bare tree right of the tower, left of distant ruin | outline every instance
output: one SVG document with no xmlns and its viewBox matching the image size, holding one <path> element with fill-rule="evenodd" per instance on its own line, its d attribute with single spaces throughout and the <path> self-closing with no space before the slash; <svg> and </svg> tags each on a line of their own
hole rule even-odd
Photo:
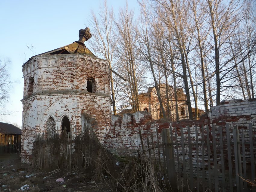
<svg viewBox="0 0 256 192">
<path fill-rule="evenodd" d="M 117 25 L 117 56 L 119 58 L 119 71 L 124 72 L 128 79 L 126 84 L 126 94 L 130 97 L 130 104 L 133 111 L 139 108 L 138 82 L 141 82 L 143 70 L 138 60 L 136 42 L 138 39 L 137 24 L 134 21 L 133 11 L 129 11 L 128 4 L 124 9 L 120 9 Z"/>
</svg>

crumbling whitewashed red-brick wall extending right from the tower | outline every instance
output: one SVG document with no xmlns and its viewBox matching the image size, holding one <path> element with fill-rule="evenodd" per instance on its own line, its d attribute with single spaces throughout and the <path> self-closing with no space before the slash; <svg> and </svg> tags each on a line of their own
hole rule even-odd
<svg viewBox="0 0 256 192">
<path fill-rule="evenodd" d="M 147 137 L 149 138 L 150 147 L 151 135 L 153 136 L 154 144 L 157 144 L 157 134 L 158 129 L 158 140 L 161 144 L 162 129 L 170 129 L 173 135 L 174 143 L 174 154 L 175 161 L 177 164 L 177 152 L 176 146 L 178 146 L 180 168 L 184 169 L 182 164 L 183 154 L 181 147 L 181 132 L 183 130 L 184 137 L 184 152 L 186 156 L 186 163 L 189 162 L 189 146 L 188 144 L 188 128 L 190 126 L 190 139 L 192 143 L 192 164 L 193 169 L 196 169 L 196 154 L 198 150 L 199 155 L 199 168 L 202 167 L 202 157 L 204 156 L 204 165 L 207 166 L 208 163 L 208 153 L 210 153 L 211 167 L 213 169 L 213 148 L 217 150 L 217 164 L 218 169 L 220 169 L 221 158 L 220 158 L 220 134 L 219 126 L 222 126 L 223 131 L 223 153 L 224 153 L 224 164 L 225 169 L 228 169 L 228 155 L 227 155 L 227 134 L 226 134 L 226 123 L 229 124 L 229 133 L 231 138 L 231 151 L 234 157 L 234 146 L 233 146 L 233 129 L 238 126 L 239 135 L 241 138 L 241 129 L 244 129 L 245 138 L 245 160 L 246 166 L 250 169 L 250 148 L 249 148 L 249 133 L 248 133 L 248 123 L 252 123 L 253 129 L 253 143 L 254 143 L 254 154 L 256 154 L 256 100 L 254 101 L 224 101 L 223 104 L 219 106 L 212 107 L 211 112 L 200 117 L 199 120 L 182 120 L 180 122 L 171 122 L 169 119 L 154 120 L 147 112 L 136 112 L 133 114 L 124 114 L 123 118 L 120 116 L 112 116 L 111 128 L 104 137 L 105 147 L 119 156 L 133 156 L 137 155 L 137 150 L 142 149 L 141 140 L 139 136 L 139 130 L 142 133 L 142 141 L 147 149 Z M 215 126 L 215 136 L 216 145 L 213 146 L 213 135 L 212 128 Z M 196 148 L 196 130 L 198 128 L 198 148 Z M 175 128 L 177 133 L 177 138 L 175 137 Z M 203 128 L 203 129 L 202 129 Z M 210 140 L 210 151 L 207 149 L 207 128 L 209 129 L 209 140 Z M 202 132 L 204 134 L 204 154 L 202 150 Z M 242 152 L 242 149 L 241 149 Z M 162 153 L 162 151 L 161 151 Z M 162 157 L 162 154 L 161 154 Z M 233 158 L 234 159 L 234 158 Z M 232 166 L 234 166 L 234 162 Z M 178 167 L 176 167 L 178 168 Z M 189 168 L 186 168 L 189 171 Z M 235 168 L 234 168 L 235 169 Z M 234 170 L 233 169 L 233 170 Z M 194 174 L 195 174 L 195 170 Z M 205 170 L 207 173 L 207 169 Z M 202 173 L 199 172 L 199 174 Z M 226 172 L 227 173 L 227 172 Z M 201 174 L 200 174 L 201 175 Z"/>
</svg>

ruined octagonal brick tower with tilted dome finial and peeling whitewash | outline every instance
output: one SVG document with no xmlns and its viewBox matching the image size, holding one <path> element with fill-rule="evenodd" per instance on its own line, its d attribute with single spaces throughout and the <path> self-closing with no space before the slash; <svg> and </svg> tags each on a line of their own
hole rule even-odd
<svg viewBox="0 0 256 192">
<path fill-rule="evenodd" d="M 49 137 L 64 130 L 74 138 L 92 123 L 102 141 L 109 129 L 111 101 L 106 60 L 97 58 L 84 42 L 89 28 L 79 31 L 79 41 L 31 57 L 22 66 L 24 76 L 22 161 L 29 162 L 36 135 Z"/>
</svg>

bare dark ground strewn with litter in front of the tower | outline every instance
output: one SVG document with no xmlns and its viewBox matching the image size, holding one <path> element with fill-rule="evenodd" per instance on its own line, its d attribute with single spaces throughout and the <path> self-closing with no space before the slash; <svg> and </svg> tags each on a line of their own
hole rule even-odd
<svg viewBox="0 0 256 192">
<path fill-rule="evenodd" d="M 92 181 L 92 172 L 39 172 L 21 163 L 19 154 L 0 154 L 0 191 L 111 191 L 106 182 Z M 64 182 L 56 182 L 58 178 L 64 178 Z"/>
</svg>

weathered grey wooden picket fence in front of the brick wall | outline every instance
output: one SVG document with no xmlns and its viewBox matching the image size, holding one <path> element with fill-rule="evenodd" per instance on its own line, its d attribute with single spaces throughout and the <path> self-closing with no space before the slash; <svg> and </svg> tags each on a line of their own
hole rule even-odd
<svg viewBox="0 0 256 192">
<path fill-rule="evenodd" d="M 255 129 L 255 128 L 254 128 Z M 158 131 L 158 130 L 157 130 Z M 254 131 L 255 134 L 255 131 Z M 169 183 L 190 191 L 256 191 L 252 123 L 239 129 L 191 126 L 164 129 L 163 163 Z"/>
</svg>

